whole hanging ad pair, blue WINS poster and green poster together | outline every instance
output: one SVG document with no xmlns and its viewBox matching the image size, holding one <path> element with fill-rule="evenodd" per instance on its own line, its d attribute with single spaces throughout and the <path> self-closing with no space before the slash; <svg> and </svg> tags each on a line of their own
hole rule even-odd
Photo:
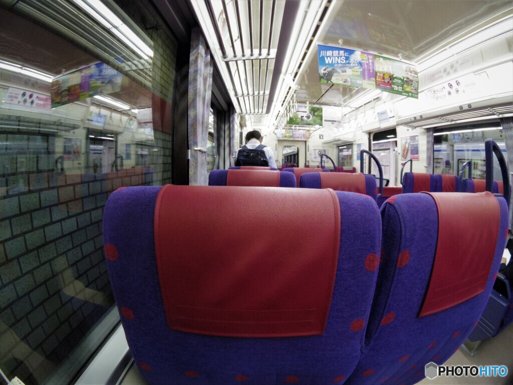
<svg viewBox="0 0 513 385">
<path fill-rule="evenodd" d="M 319 81 L 419 98 L 415 65 L 350 48 L 318 45 Z"/>
</svg>

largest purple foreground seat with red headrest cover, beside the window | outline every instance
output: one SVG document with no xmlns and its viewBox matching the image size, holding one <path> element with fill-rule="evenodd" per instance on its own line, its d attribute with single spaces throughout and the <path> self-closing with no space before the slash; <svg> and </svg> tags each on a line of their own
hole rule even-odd
<svg viewBox="0 0 513 385">
<path fill-rule="evenodd" d="M 284 224 L 294 237 L 280 236 Z M 369 197 L 127 187 L 109 197 L 103 225 L 113 294 L 149 383 L 343 383 L 356 367 L 381 248 Z"/>
</svg>

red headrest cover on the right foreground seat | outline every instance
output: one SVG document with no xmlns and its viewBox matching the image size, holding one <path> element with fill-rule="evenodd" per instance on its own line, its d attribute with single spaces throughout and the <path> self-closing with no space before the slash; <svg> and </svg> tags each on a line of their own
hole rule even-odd
<svg viewBox="0 0 513 385">
<path fill-rule="evenodd" d="M 438 209 L 438 241 L 419 317 L 438 313 L 480 293 L 494 260 L 500 207 L 490 192 L 428 192 Z"/>
</svg>

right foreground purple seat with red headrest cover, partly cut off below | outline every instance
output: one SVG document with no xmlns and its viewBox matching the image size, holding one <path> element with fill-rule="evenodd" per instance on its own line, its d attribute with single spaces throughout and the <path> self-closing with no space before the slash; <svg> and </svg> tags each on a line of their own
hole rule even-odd
<svg viewBox="0 0 513 385">
<path fill-rule="evenodd" d="M 366 347 L 346 384 L 412 384 L 478 323 L 494 285 L 508 208 L 490 192 L 391 197 Z"/>
</svg>

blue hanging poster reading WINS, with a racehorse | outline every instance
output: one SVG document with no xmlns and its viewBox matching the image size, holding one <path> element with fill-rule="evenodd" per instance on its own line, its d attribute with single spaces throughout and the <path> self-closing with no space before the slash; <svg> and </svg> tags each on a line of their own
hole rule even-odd
<svg viewBox="0 0 513 385">
<path fill-rule="evenodd" d="M 349 48 L 317 46 L 321 83 L 375 88 L 374 55 Z"/>
</svg>

